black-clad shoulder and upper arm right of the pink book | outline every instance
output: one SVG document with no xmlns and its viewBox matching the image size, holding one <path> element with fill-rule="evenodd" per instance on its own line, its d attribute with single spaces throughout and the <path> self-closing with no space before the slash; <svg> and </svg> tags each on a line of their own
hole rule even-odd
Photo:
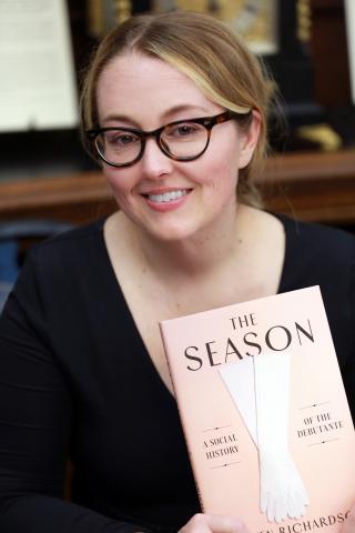
<svg viewBox="0 0 355 533">
<path fill-rule="evenodd" d="M 355 235 L 280 217 L 286 253 L 280 292 L 320 285 L 341 364 L 355 349 Z"/>
</svg>

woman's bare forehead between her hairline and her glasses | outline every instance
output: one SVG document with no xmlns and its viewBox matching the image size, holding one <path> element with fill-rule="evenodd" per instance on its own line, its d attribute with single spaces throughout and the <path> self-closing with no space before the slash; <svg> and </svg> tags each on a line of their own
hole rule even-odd
<svg viewBox="0 0 355 533">
<path fill-rule="evenodd" d="M 101 119 L 111 113 L 161 115 L 184 105 L 205 111 L 220 108 L 187 76 L 161 59 L 139 53 L 111 60 L 99 78 L 97 95 Z"/>
</svg>

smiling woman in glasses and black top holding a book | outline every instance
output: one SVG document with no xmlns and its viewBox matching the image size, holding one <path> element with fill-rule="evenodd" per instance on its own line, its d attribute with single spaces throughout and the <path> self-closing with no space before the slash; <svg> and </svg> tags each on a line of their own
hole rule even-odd
<svg viewBox="0 0 355 533">
<path fill-rule="evenodd" d="M 37 248 L 1 318 L 1 532 L 245 532 L 199 514 L 160 320 L 321 284 L 351 390 L 355 240 L 257 209 L 271 97 L 204 16 L 99 48 L 83 130 L 120 210 Z"/>
</svg>

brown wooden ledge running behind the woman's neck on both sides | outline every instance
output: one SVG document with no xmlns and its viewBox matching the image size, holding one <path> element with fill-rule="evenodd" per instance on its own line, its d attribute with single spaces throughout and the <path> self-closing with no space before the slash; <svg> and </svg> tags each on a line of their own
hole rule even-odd
<svg viewBox="0 0 355 533">
<path fill-rule="evenodd" d="M 355 150 L 275 155 L 257 181 L 271 210 L 355 224 Z M 0 183 L 0 221 L 44 218 L 82 224 L 114 209 L 100 171 Z"/>
</svg>

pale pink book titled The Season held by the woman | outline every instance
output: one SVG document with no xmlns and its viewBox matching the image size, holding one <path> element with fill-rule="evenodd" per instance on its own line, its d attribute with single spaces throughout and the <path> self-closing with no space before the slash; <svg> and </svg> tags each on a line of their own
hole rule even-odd
<svg viewBox="0 0 355 533">
<path fill-rule="evenodd" d="M 336 533 L 355 432 L 318 286 L 160 323 L 202 510 Z"/>
</svg>

